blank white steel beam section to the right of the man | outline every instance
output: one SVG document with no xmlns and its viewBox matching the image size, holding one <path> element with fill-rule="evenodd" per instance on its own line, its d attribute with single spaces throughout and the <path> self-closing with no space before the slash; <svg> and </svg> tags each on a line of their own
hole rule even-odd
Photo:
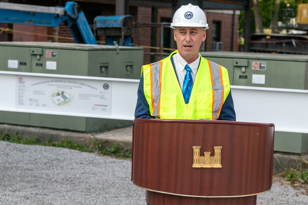
<svg viewBox="0 0 308 205">
<path fill-rule="evenodd" d="M 274 123 L 275 131 L 308 133 L 308 90 L 231 86 L 237 121 Z"/>
</svg>

